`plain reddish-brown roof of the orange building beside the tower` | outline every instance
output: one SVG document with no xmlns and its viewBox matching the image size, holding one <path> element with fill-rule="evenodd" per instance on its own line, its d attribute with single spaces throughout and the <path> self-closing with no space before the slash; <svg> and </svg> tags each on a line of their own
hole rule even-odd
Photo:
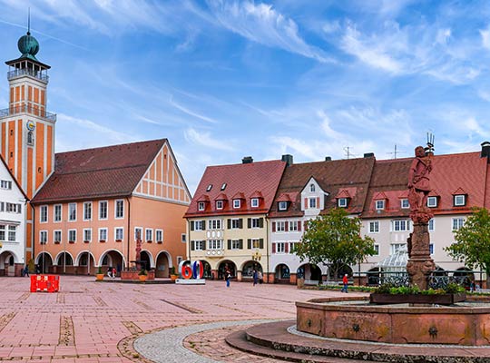
<svg viewBox="0 0 490 363">
<path fill-rule="evenodd" d="M 131 195 L 167 139 L 56 153 L 54 173 L 33 203 Z"/>
</svg>

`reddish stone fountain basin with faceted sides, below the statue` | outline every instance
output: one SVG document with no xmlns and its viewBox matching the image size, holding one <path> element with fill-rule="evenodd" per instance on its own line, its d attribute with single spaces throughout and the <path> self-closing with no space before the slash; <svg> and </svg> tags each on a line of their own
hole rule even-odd
<svg viewBox="0 0 490 363">
<path fill-rule="evenodd" d="M 395 344 L 490 345 L 490 304 L 374 305 L 366 298 L 297 302 L 297 329 L 328 338 Z"/>
</svg>

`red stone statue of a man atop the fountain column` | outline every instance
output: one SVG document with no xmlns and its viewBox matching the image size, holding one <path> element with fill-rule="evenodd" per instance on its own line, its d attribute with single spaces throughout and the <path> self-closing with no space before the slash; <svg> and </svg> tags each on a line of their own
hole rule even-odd
<svg viewBox="0 0 490 363">
<path fill-rule="evenodd" d="M 426 157 L 424 147 L 417 146 L 416 157 L 408 172 L 408 202 L 410 211 L 425 209 L 427 196 L 430 192 L 429 173 L 432 171 L 430 158 Z"/>
</svg>

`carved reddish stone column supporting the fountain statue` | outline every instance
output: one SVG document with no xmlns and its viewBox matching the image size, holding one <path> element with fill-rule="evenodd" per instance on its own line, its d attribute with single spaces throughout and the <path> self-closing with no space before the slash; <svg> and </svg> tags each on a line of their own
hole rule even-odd
<svg viewBox="0 0 490 363">
<path fill-rule="evenodd" d="M 421 216 L 422 213 L 417 213 Z M 429 243 L 430 237 L 428 232 L 427 221 L 432 215 L 426 215 L 423 218 L 413 218 L 414 231 L 408 238 L 408 262 L 407 273 L 410 285 L 417 286 L 419 289 L 428 288 L 428 277 L 433 270 L 436 270 L 434 260 L 430 258 Z M 418 220 L 418 221 L 417 221 Z"/>
</svg>

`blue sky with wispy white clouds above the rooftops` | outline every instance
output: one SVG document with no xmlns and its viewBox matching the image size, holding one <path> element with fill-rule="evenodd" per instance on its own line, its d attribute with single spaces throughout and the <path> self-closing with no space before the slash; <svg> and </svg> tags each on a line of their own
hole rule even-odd
<svg viewBox="0 0 490 363">
<path fill-rule="evenodd" d="M 56 151 L 166 137 L 191 192 L 207 165 L 248 155 L 490 140 L 488 1 L 0 0 L 2 61 L 29 6 Z"/>
</svg>

